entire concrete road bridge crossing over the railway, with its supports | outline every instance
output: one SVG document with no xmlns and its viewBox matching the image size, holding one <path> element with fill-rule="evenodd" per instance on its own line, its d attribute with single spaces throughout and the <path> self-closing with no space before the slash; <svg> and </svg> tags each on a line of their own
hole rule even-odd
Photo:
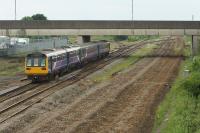
<svg viewBox="0 0 200 133">
<path fill-rule="evenodd" d="M 78 35 L 191 35 L 193 50 L 199 49 L 200 21 L 0 21 L 0 36 Z"/>
</svg>

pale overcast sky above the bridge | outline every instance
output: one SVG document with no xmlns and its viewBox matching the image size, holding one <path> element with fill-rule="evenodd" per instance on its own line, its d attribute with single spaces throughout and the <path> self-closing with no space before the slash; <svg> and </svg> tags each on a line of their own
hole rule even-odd
<svg viewBox="0 0 200 133">
<path fill-rule="evenodd" d="M 0 0 L 0 20 L 14 19 L 14 1 Z M 17 19 L 131 20 L 131 0 L 17 0 Z M 200 0 L 134 0 L 135 20 L 200 20 Z"/>
</svg>

